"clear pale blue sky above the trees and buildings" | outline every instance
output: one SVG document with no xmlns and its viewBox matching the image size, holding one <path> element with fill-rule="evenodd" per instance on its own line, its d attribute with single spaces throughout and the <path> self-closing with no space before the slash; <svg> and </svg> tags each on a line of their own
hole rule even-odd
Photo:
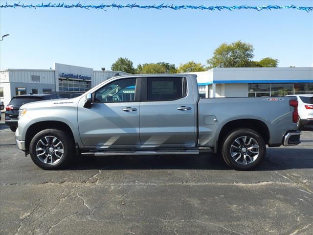
<svg viewBox="0 0 313 235">
<path fill-rule="evenodd" d="M 80 0 L 85 2 L 313 6 L 312 0 Z M 131 59 L 134 66 L 159 61 L 178 66 L 189 60 L 206 64 L 221 43 L 237 40 L 254 46 L 255 60 L 270 56 L 279 59 L 279 67 L 313 66 L 313 12 L 299 10 L 1 8 L 0 35 L 7 33 L 10 36 L 0 42 L 1 69 L 49 69 L 54 62 L 110 69 L 120 56 Z"/>
</svg>

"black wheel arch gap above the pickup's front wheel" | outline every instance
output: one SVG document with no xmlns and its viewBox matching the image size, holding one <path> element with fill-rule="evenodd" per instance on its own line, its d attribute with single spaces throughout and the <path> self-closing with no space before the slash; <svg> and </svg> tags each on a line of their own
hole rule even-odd
<svg viewBox="0 0 313 235">
<path fill-rule="evenodd" d="M 29 152 L 29 145 L 33 137 L 40 131 L 45 129 L 59 129 L 65 131 L 75 141 L 71 128 L 62 121 L 39 121 L 28 127 L 25 135 L 25 150 Z M 75 141 L 76 142 L 76 141 Z"/>
</svg>

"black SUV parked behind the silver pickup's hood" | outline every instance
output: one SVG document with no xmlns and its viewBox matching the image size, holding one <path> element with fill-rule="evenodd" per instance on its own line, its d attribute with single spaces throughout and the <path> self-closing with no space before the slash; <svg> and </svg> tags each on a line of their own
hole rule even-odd
<svg viewBox="0 0 313 235">
<path fill-rule="evenodd" d="M 10 103 L 5 107 L 5 124 L 7 124 L 11 131 L 16 131 L 18 127 L 19 109 L 23 104 L 48 100 L 48 99 L 62 99 L 57 94 L 22 94 L 13 96 Z"/>
</svg>

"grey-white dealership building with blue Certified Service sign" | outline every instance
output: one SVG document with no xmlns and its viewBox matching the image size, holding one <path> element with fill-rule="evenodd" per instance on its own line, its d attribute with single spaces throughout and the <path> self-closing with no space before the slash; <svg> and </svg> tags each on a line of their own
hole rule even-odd
<svg viewBox="0 0 313 235">
<path fill-rule="evenodd" d="M 0 100 L 7 105 L 12 96 L 51 92 L 84 93 L 123 71 L 94 71 L 91 68 L 54 64 L 51 70 L 6 69 L 0 71 Z"/>
</svg>

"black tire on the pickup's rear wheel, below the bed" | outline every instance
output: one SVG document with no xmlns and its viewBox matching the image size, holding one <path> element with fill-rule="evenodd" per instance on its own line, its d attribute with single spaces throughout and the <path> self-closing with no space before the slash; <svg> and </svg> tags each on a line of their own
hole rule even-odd
<svg viewBox="0 0 313 235">
<path fill-rule="evenodd" d="M 244 138 L 239 139 L 241 137 L 246 137 L 247 141 L 252 138 L 251 142 L 256 142 L 256 144 L 259 147 L 251 148 L 251 146 L 256 146 L 256 145 L 252 143 L 251 145 L 246 145 L 246 143 L 243 142 Z M 238 147 L 237 145 L 235 145 L 237 144 L 235 140 L 238 141 L 238 139 L 242 141 L 242 144 L 238 144 L 238 146 L 241 146 L 241 147 Z M 227 135 L 225 135 L 222 144 L 223 145 L 221 146 L 221 155 L 223 157 L 223 160 L 227 165 L 229 165 L 235 170 L 251 170 L 255 168 L 258 164 L 260 164 L 266 155 L 265 141 L 263 140 L 262 136 L 259 133 L 251 129 L 243 128 L 243 129 L 236 129 L 236 130 L 229 132 Z M 258 155 L 255 153 L 249 152 L 252 150 L 255 150 L 253 152 L 256 152 L 257 151 L 256 149 L 258 149 L 258 152 L 259 152 Z M 238 150 L 239 152 L 237 155 L 232 157 L 232 154 L 231 154 L 232 150 L 234 150 L 234 152 L 235 150 L 236 151 Z M 250 156 L 250 155 L 252 156 L 252 158 L 250 157 L 247 158 L 247 156 Z M 255 157 L 254 159 L 253 155 L 254 156 L 257 155 L 257 157 Z M 239 158 L 239 156 L 241 157 Z M 239 158 L 239 160 L 236 161 L 235 158 Z M 240 163 L 241 161 L 242 163 Z"/>
</svg>

